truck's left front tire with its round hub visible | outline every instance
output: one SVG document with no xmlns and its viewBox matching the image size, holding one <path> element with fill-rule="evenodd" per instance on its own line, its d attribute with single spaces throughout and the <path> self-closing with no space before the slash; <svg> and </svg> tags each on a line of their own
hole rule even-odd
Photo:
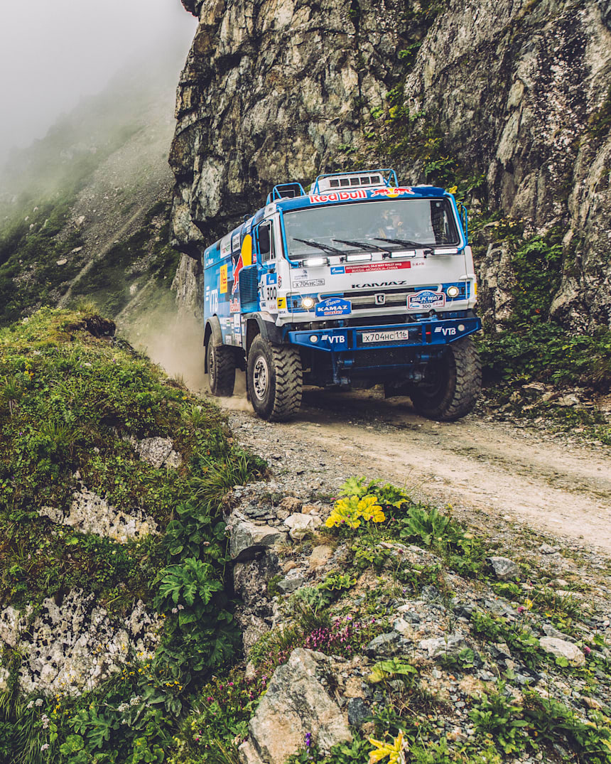
<svg viewBox="0 0 611 764">
<path fill-rule="evenodd" d="M 301 406 L 303 374 L 299 350 L 254 338 L 246 368 L 255 413 L 268 422 L 286 422 Z"/>
</svg>

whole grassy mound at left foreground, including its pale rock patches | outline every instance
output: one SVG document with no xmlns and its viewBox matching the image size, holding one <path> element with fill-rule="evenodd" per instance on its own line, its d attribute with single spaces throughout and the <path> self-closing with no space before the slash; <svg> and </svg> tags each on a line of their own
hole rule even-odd
<svg viewBox="0 0 611 764">
<path fill-rule="evenodd" d="M 114 329 L 0 330 L 4 762 L 136 762 L 151 735 L 157 756 L 238 643 L 218 507 L 262 463 Z"/>
</svg>

